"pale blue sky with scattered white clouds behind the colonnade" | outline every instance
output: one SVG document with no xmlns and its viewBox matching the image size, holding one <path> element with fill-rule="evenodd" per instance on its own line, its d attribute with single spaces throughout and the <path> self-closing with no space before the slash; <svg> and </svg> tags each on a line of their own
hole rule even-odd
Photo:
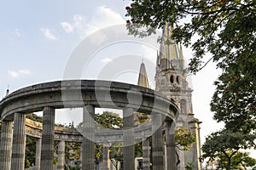
<svg viewBox="0 0 256 170">
<path fill-rule="evenodd" d="M 123 40 L 109 43 L 114 37 L 104 37 L 101 34 L 101 30 L 108 29 L 109 26 L 125 25 L 125 7 L 130 3 L 128 0 L 2 1 L 0 97 L 5 95 L 7 88 L 13 92 L 32 84 L 72 77 L 67 76 L 66 72 L 79 47 L 85 51 L 90 51 L 90 48 L 101 48 L 86 60 L 86 65 L 79 68 L 81 71 L 74 78 L 110 78 L 114 81 L 137 84 L 139 65 L 143 60 L 150 86 L 154 88 L 157 45 L 154 44 L 152 48 L 143 42 Z M 101 41 L 106 40 L 108 44 L 101 46 Z M 156 38 L 154 40 L 156 42 Z M 93 42 L 94 45 L 86 46 L 86 41 Z M 84 56 L 86 54 L 89 52 L 85 52 Z M 189 59 L 192 52 L 189 48 L 183 48 L 183 55 Z M 113 61 L 119 63 L 119 67 L 113 65 Z M 72 66 L 76 70 L 76 66 Z M 108 71 L 109 68 L 112 68 L 112 72 Z M 207 134 L 222 127 L 221 123 L 212 120 L 213 113 L 209 107 L 215 89 L 212 83 L 220 72 L 210 63 L 196 76 L 189 77 L 189 84 L 194 90 L 193 111 L 195 117 L 202 122 L 201 143 L 205 141 Z M 55 122 L 77 122 L 81 120 L 81 114 L 78 112 L 81 111 L 57 111 Z"/>
</svg>

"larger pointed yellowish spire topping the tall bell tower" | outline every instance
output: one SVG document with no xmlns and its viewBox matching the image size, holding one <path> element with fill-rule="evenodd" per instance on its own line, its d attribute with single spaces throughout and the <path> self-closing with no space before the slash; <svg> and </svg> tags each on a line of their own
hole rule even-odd
<svg viewBox="0 0 256 170">
<path fill-rule="evenodd" d="M 161 37 L 160 53 L 157 55 L 157 66 L 160 70 L 181 69 L 183 70 L 182 49 L 178 48 L 177 42 L 172 40 L 172 26 L 166 22 Z"/>
</svg>

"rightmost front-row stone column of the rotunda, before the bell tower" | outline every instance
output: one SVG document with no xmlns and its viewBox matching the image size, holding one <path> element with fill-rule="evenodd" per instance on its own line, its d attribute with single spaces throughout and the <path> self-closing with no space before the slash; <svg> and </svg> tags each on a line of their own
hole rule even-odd
<svg viewBox="0 0 256 170">
<path fill-rule="evenodd" d="M 171 121 L 166 121 L 166 170 L 177 170 L 174 128 Z"/>
</svg>

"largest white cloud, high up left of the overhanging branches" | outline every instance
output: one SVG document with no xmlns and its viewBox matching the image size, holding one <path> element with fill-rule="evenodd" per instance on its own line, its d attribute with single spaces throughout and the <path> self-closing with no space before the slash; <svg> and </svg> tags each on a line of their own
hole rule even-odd
<svg viewBox="0 0 256 170">
<path fill-rule="evenodd" d="M 92 14 L 90 19 L 87 19 L 81 14 L 74 14 L 73 22 L 62 22 L 61 26 L 65 31 L 67 31 L 68 28 L 68 31 L 72 30 L 74 33 L 77 33 L 80 38 L 83 39 L 84 37 L 87 37 L 93 32 L 98 31 L 104 27 L 125 24 L 125 20 L 122 18 L 122 16 L 113 11 L 111 8 L 101 6 L 96 8 L 95 11 L 96 12 Z M 63 23 L 65 23 L 65 27 L 63 26 Z M 102 37 L 100 38 L 102 39 Z"/>
</svg>

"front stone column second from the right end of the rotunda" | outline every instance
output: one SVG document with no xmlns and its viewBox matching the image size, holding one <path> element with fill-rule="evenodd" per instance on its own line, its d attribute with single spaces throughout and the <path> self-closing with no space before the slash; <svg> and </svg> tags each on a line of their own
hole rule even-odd
<svg viewBox="0 0 256 170">
<path fill-rule="evenodd" d="M 153 170 L 164 169 L 164 144 L 162 134 L 162 116 L 153 113 L 152 115 L 152 163 Z"/>
</svg>

